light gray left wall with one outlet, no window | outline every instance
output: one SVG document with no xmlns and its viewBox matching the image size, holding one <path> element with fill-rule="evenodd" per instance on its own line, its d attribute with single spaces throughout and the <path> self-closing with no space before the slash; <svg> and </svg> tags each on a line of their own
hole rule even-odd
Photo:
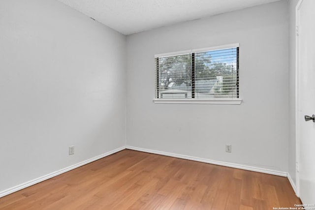
<svg viewBox="0 0 315 210">
<path fill-rule="evenodd" d="M 125 51 L 59 1 L 0 1 L 0 192 L 125 146 Z"/>
</svg>

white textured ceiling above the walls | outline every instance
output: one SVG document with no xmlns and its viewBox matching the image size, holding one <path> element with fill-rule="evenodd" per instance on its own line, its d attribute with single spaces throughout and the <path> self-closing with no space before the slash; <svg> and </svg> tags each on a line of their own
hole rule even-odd
<svg viewBox="0 0 315 210">
<path fill-rule="evenodd" d="M 123 34 L 278 0 L 59 0 Z"/>
</svg>

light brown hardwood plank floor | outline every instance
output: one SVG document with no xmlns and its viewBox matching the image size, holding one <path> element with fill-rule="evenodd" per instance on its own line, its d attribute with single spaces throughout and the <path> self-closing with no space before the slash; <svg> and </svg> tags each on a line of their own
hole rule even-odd
<svg viewBox="0 0 315 210">
<path fill-rule="evenodd" d="M 0 210 L 273 210 L 285 177 L 123 150 L 0 198 Z"/>
</svg>

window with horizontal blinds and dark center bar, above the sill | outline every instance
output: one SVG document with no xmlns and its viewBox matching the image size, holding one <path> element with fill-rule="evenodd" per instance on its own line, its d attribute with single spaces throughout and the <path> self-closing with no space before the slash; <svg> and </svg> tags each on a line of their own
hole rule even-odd
<svg viewBox="0 0 315 210">
<path fill-rule="evenodd" d="M 238 99 L 239 45 L 156 55 L 156 100 Z"/>
</svg>

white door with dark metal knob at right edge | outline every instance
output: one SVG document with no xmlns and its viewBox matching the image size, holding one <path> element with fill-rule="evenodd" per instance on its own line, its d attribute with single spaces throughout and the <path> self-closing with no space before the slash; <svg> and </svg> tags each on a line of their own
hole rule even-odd
<svg viewBox="0 0 315 210">
<path fill-rule="evenodd" d="M 297 187 L 303 204 L 315 205 L 315 0 L 300 0 L 297 22 Z M 315 206 L 312 207 L 315 209 Z"/>
</svg>

